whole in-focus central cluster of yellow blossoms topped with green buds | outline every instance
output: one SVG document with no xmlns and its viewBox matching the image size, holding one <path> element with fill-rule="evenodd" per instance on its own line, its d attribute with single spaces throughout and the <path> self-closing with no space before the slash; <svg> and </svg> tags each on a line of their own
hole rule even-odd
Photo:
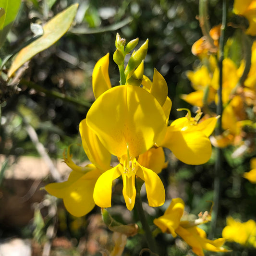
<svg viewBox="0 0 256 256">
<path fill-rule="evenodd" d="M 134 39 L 124 49 L 123 40 L 117 35 L 113 56 L 121 68 L 123 55 L 137 43 Z M 144 75 L 147 44 L 148 40 L 131 55 L 121 85 L 110 83 L 109 54 L 95 65 L 92 87 L 96 100 L 79 125 L 91 164 L 75 165 L 68 150 L 64 160 L 73 170 L 68 180 L 45 187 L 50 194 L 63 198 L 65 207 L 75 216 L 85 215 L 95 204 L 110 207 L 112 181 L 119 177 L 129 210 L 134 208 L 136 178 L 145 182 L 149 206 L 162 205 L 165 189 L 158 173 L 166 166 L 163 147 L 187 164 L 202 164 L 211 156 L 208 137 L 218 118 L 198 122 L 202 112 L 198 110 L 193 118 L 186 110 L 186 117 L 168 125 L 171 99 L 167 83 L 156 69 L 152 81 Z M 110 164 L 111 155 L 119 160 L 116 166 Z"/>
</svg>

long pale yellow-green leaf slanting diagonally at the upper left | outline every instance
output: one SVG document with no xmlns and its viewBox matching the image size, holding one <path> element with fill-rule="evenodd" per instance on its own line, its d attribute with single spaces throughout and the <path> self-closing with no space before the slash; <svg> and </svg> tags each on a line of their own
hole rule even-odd
<svg viewBox="0 0 256 256">
<path fill-rule="evenodd" d="M 30 60 L 38 52 L 43 51 L 56 43 L 71 26 L 77 8 L 78 3 L 75 3 L 68 7 L 66 10 L 57 14 L 47 24 L 45 24 L 43 26 L 43 36 L 39 37 L 37 40 L 23 48 L 17 54 L 17 57 L 12 62 L 12 66 L 8 72 L 8 76 L 12 76 L 12 74 L 17 69 L 19 69 L 26 61 Z"/>
</svg>

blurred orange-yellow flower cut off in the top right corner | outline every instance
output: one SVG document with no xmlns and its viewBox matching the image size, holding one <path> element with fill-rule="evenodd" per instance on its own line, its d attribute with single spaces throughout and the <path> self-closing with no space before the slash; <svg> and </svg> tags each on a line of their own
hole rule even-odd
<svg viewBox="0 0 256 256">
<path fill-rule="evenodd" d="M 245 33 L 256 36 L 256 0 L 235 0 L 233 12 L 243 15 L 249 21 L 249 27 Z"/>
</svg>

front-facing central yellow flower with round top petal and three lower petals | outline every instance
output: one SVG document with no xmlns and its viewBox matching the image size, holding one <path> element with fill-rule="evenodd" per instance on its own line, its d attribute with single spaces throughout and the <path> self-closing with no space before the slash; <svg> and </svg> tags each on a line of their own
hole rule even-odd
<svg viewBox="0 0 256 256">
<path fill-rule="evenodd" d="M 155 143 L 159 144 L 165 135 L 166 116 L 158 100 L 141 87 L 116 86 L 93 103 L 86 124 L 120 161 L 98 178 L 94 189 L 95 203 L 110 207 L 112 181 L 122 176 L 124 200 L 127 208 L 133 209 L 137 175 L 145 181 L 149 205 L 162 205 L 165 191 L 160 178 L 137 161 L 139 155 Z"/>
</svg>

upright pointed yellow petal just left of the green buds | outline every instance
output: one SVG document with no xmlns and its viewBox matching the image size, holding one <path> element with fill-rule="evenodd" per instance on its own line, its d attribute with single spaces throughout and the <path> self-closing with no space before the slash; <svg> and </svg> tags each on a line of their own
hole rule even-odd
<svg viewBox="0 0 256 256">
<path fill-rule="evenodd" d="M 109 53 L 97 61 L 92 73 L 92 88 L 95 98 L 111 88 L 109 76 Z"/>
</svg>

